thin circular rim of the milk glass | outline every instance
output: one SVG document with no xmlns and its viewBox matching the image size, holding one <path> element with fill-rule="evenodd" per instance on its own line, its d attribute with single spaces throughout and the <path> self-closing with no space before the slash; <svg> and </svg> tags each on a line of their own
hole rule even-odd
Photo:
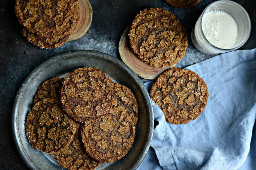
<svg viewBox="0 0 256 170">
<path fill-rule="evenodd" d="M 216 46 L 213 46 L 207 39 L 206 39 L 206 37 L 204 36 L 204 32 L 203 32 L 203 29 L 202 29 L 202 18 L 203 18 L 203 16 L 204 16 L 204 14 L 205 14 L 205 11 L 206 11 L 206 9 L 208 9 L 211 5 L 213 5 L 214 3 L 217 3 L 217 2 L 219 2 L 219 1 L 226 1 L 226 2 L 232 2 L 232 3 L 234 3 L 235 5 L 237 5 L 238 7 L 240 7 L 241 9 L 243 9 L 244 11 L 245 11 L 245 15 L 247 16 L 247 18 L 248 18 L 248 21 L 249 21 L 249 34 L 248 34 L 248 36 L 246 37 L 246 39 L 244 39 L 244 42 L 242 43 L 242 44 L 240 44 L 239 46 L 237 46 L 237 47 L 235 47 L 235 48 L 228 48 L 228 49 L 223 49 L 223 48 L 218 48 L 218 47 L 216 47 Z M 230 15 L 231 16 L 231 15 Z M 233 50 L 236 50 L 237 48 L 240 48 L 241 46 L 243 46 L 246 42 L 247 42 L 247 40 L 249 39 L 249 37 L 250 37 L 250 35 L 251 35 L 251 18 L 250 18 L 250 16 L 249 16 L 249 14 L 248 14 L 248 12 L 244 9 L 244 7 L 242 7 L 242 5 L 240 5 L 239 3 L 237 3 L 237 2 L 235 2 L 235 1 L 232 1 L 232 0 L 216 0 L 216 1 L 214 1 L 214 2 L 211 2 L 209 5 L 207 5 L 207 7 L 204 9 L 204 11 L 202 12 L 202 14 L 201 14 L 201 16 L 200 16 L 200 23 L 201 23 L 201 25 L 200 25 L 200 31 L 202 32 L 202 34 L 203 34 L 203 37 L 204 37 L 204 40 L 211 46 L 211 47 L 213 47 L 213 48 L 216 48 L 217 50 L 222 50 L 222 51 L 233 51 Z"/>
</svg>

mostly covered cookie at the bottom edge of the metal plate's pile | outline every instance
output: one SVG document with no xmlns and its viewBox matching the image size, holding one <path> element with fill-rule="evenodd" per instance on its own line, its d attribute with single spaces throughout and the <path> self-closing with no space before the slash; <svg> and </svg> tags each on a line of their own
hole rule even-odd
<svg viewBox="0 0 256 170">
<path fill-rule="evenodd" d="M 70 170 L 94 170 L 100 163 L 91 157 L 83 149 L 81 140 L 81 123 L 76 123 L 78 127 L 76 134 L 68 147 L 64 147 L 55 153 L 56 159 L 62 167 Z"/>
</svg>

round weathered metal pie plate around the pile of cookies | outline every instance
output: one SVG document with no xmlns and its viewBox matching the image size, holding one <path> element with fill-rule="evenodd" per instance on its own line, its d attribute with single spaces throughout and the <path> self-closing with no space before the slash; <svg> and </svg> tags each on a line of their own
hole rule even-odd
<svg viewBox="0 0 256 170">
<path fill-rule="evenodd" d="M 14 100 L 12 110 L 12 131 L 17 149 L 29 168 L 34 170 L 61 170 L 53 154 L 46 154 L 33 148 L 25 133 L 25 121 L 31 109 L 33 96 L 43 81 L 52 77 L 65 77 L 79 67 L 96 67 L 113 82 L 126 85 L 136 96 L 139 112 L 135 141 L 128 154 L 113 163 L 104 163 L 98 170 L 135 170 L 147 154 L 153 136 L 153 108 L 149 94 L 140 79 L 121 61 L 96 51 L 70 51 L 58 54 L 36 67 L 24 80 Z"/>
</svg>

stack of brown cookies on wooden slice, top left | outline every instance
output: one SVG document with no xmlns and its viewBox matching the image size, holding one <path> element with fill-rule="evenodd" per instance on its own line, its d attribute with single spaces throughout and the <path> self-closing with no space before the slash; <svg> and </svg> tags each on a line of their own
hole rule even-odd
<svg viewBox="0 0 256 170">
<path fill-rule="evenodd" d="M 62 46 L 79 20 L 78 0 L 16 0 L 15 12 L 24 37 L 40 48 Z"/>
</svg>

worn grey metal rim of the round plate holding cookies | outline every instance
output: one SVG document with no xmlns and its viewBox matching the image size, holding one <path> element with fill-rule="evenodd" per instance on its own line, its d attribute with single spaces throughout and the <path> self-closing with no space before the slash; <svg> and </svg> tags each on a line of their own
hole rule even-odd
<svg viewBox="0 0 256 170">
<path fill-rule="evenodd" d="M 14 104 L 12 108 L 12 132 L 13 132 L 13 138 L 14 142 L 16 144 L 16 147 L 19 151 L 19 154 L 21 155 L 21 158 L 23 161 L 26 163 L 26 165 L 33 169 L 33 170 L 39 170 L 38 166 L 33 163 L 33 161 L 28 157 L 28 154 L 26 153 L 26 150 L 24 149 L 24 146 L 21 144 L 21 137 L 19 136 L 19 126 L 18 126 L 18 109 L 19 109 L 19 103 L 21 102 L 21 97 L 24 95 L 24 92 L 26 90 L 26 86 L 28 85 L 28 82 L 35 77 L 36 74 L 38 74 L 40 71 L 46 71 L 42 70 L 42 68 L 47 67 L 55 62 L 59 62 L 62 60 L 70 60 L 71 58 L 75 59 L 76 57 L 81 57 L 81 55 L 84 55 L 86 58 L 95 58 L 96 60 L 104 60 L 107 62 L 111 62 L 112 64 L 115 64 L 117 67 L 119 67 L 121 70 L 125 71 L 130 78 L 132 78 L 137 87 L 138 90 L 142 93 L 143 100 L 146 105 L 146 114 L 147 114 L 147 131 L 146 131 L 146 138 L 143 143 L 143 146 L 140 148 L 139 154 L 137 154 L 136 159 L 129 165 L 129 167 L 123 167 L 122 169 L 132 169 L 135 170 L 137 167 L 140 165 L 140 163 L 143 161 L 145 158 L 147 151 L 150 147 L 152 137 L 153 137 L 153 129 L 154 129 L 154 115 L 153 115 L 153 108 L 152 108 L 152 103 L 150 100 L 150 96 L 141 82 L 141 80 L 137 77 L 137 75 L 130 69 L 128 68 L 125 64 L 123 64 L 121 61 L 115 59 L 114 57 L 97 52 L 97 51 L 89 51 L 89 50 L 77 50 L 77 51 L 69 51 L 65 53 L 60 53 L 58 55 L 55 55 L 41 64 L 39 64 L 33 71 L 31 71 L 30 74 L 25 78 L 24 82 L 21 84 L 17 95 L 14 99 Z M 90 56 L 90 57 L 88 57 Z M 39 152 L 39 151 L 38 151 Z M 127 166 L 127 165 L 126 165 Z"/>
</svg>

